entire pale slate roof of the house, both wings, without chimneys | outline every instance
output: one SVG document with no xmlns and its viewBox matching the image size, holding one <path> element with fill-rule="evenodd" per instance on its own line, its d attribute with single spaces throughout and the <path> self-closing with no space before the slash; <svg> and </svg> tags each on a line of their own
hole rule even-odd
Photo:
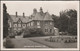
<svg viewBox="0 0 80 51">
<path fill-rule="evenodd" d="M 10 15 L 11 19 L 13 22 L 17 22 L 19 19 L 21 19 L 22 22 L 27 23 L 29 21 L 32 20 L 51 20 L 53 21 L 53 19 L 51 18 L 51 15 L 48 12 L 45 13 L 41 13 L 41 12 L 37 12 L 36 14 L 33 13 L 30 16 L 18 16 L 16 17 L 16 15 Z"/>
</svg>

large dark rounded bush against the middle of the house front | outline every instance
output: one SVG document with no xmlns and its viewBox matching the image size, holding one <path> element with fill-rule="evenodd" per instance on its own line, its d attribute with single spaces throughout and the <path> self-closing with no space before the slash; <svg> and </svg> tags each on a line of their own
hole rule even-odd
<svg viewBox="0 0 80 51">
<path fill-rule="evenodd" d="M 25 37 L 36 37 L 36 36 L 44 36 L 43 31 L 38 28 L 26 29 L 23 35 L 24 38 Z"/>
</svg>

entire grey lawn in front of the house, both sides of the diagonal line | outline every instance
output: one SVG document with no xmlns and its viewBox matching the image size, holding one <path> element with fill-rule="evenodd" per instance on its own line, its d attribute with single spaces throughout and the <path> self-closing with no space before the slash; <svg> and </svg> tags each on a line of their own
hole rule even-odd
<svg viewBox="0 0 80 51">
<path fill-rule="evenodd" d="M 15 48 L 77 48 L 77 43 L 60 43 L 45 41 L 45 37 L 13 38 Z"/>
</svg>

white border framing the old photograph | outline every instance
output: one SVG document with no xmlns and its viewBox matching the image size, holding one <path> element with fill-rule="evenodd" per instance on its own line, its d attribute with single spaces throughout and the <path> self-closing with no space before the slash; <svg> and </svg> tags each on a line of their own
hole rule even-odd
<svg viewBox="0 0 80 51">
<path fill-rule="evenodd" d="M 78 16 L 77 17 L 77 37 L 78 37 L 77 48 L 27 48 L 27 49 L 26 48 L 15 48 L 15 49 L 3 48 L 3 9 L 2 9 L 3 2 L 4 1 L 1 1 L 1 50 L 79 50 L 79 11 L 77 11 L 77 16 Z M 22 1 L 18 1 L 18 2 L 22 2 Z M 33 2 L 33 1 L 27 1 L 27 2 Z M 43 1 L 35 1 L 35 2 L 43 2 Z M 48 1 L 44 1 L 44 2 L 48 2 Z M 54 2 L 54 1 L 49 1 L 49 2 Z M 79 6 L 79 3 L 78 3 L 78 6 Z M 79 7 L 78 7 L 78 10 L 79 10 Z"/>
</svg>

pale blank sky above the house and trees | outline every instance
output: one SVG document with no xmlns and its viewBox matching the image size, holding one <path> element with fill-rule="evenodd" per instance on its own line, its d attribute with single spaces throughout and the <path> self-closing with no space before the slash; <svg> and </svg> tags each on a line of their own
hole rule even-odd
<svg viewBox="0 0 80 51">
<path fill-rule="evenodd" d="M 60 11 L 66 9 L 75 9 L 78 11 L 79 2 L 78 1 L 3 1 L 7 6 L 7 12 L 10 15 L 15 15 L 15 12 L 18 12 L 18 15 L 29 16 L 33 13 L 33 9 L 36 8 L 39 12 L 40 7 L 43 8 L 43 12 L 49 12 L 59 16 Z"/>
</svg>

